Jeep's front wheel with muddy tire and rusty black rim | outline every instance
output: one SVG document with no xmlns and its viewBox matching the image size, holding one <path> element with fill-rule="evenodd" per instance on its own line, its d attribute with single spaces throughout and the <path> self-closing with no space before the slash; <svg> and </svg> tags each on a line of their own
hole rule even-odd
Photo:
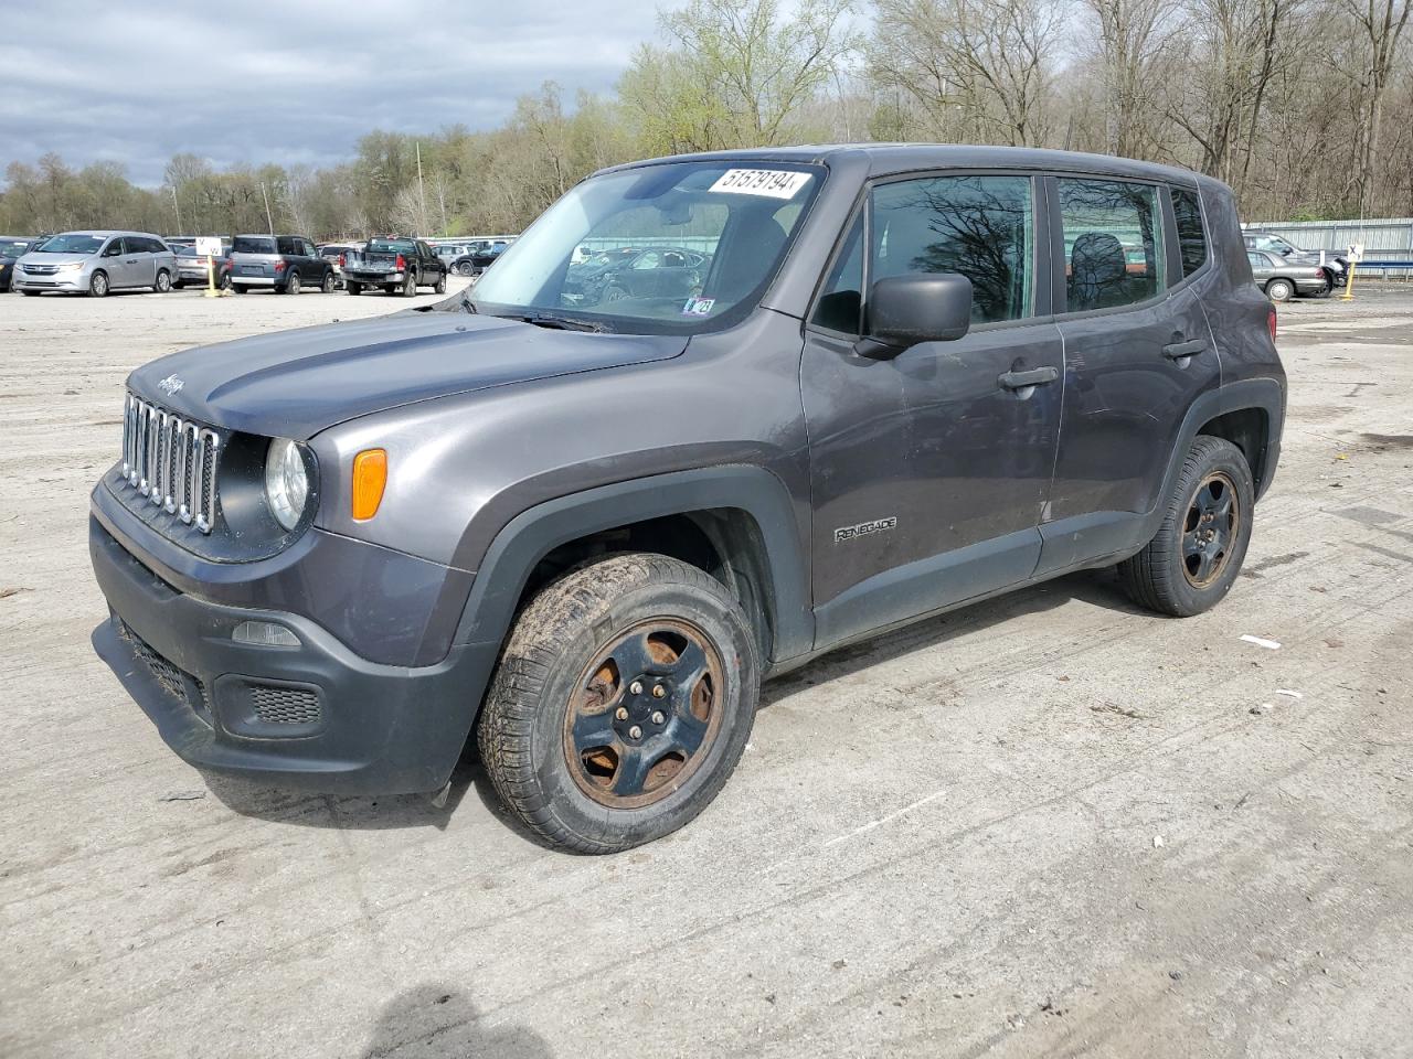
<svg viewBox="0 0 1413 1059">
<path fill-rule="evenodd" d="M 719 582 L 666 555 L 615 555 L 520 614 L 478 720 L 480 761 L 543 842 L 616 853 L 711 803 L 759 690 L 750 623 Z"/>
</svg>

